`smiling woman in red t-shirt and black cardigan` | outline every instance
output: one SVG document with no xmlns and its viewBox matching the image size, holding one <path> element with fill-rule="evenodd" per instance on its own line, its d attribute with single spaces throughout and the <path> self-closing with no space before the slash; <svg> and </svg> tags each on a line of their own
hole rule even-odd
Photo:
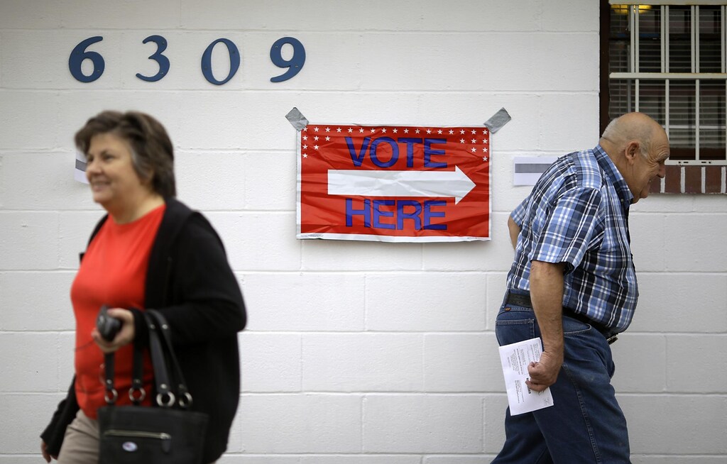
<svg viewBox="0 0 727 464">
<path fill-rule="evenodd" d="M 87 158 L 93 200 L 108 214 L 92 233 L 71 286 L 76 375 L 41 434 L 43 457 L 61 464 L 98 462 L 103 355 L 116 352 L 116 404 L 130 404 L 125 392 L 131 387 L 132 342 L 148 343 L 142 312 L 153 308 L 169 321 L 192 410 L 209 415 L 204 463 L 212 463 L 227 447 L 237 410 L 237 333 L 246 322 L 220 237 L 200 213 L 174 198 L 172 142 L 149 115 L 100 113 L 76 134 L 76 146 Z M 95 328 L 103 304 L 121 321 L 112 341 Z M 144 364 L 144 388 L 150 392 L 148 354 Z"/>
</svg>

